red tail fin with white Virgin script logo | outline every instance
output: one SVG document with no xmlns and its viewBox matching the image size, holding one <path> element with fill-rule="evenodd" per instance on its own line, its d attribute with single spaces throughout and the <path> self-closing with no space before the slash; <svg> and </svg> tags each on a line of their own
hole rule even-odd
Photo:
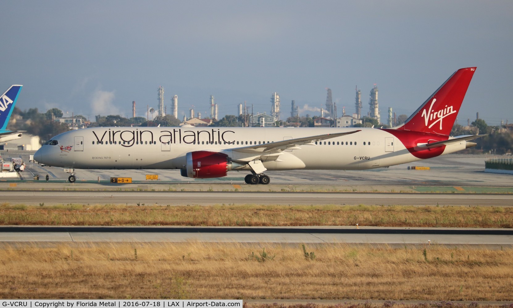
<svg viewBox="0 0 513 308">
<path fill-rule="evenodd" d="M 448 136 L 475 71 L 456 71 L 397 129 Z"/>
</svg>

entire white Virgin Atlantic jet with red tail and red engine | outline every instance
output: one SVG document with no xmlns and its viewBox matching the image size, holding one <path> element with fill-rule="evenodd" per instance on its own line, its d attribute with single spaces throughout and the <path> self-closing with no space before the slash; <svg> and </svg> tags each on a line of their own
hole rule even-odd
<svg viewBox="0 0 513 308">
<path fill-rule="evenodd" d="M 476 145 L 451 137 L 476 68 L 452 74 L 404 124 L 393 128 L 91 127 L 57 135 L 34 159 L 74 169 L 180 169 L 184 177 L 249 171 L 248 184 L 269 184 L 267 170 L 363 170 L 410 163 Z"/>
</svg>

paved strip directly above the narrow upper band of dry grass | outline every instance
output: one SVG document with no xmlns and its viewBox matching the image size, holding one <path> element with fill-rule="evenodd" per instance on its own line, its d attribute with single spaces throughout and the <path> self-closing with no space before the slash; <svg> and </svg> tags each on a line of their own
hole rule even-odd
<svg viewBox="0 0 513 308">
<path fill-rule="evenodd" d="M 281 204 L 513 206 L 508 194 L 236 192 L 236 191 L 2 191 L 2 202 L 24 204 Z"/>
</svg>

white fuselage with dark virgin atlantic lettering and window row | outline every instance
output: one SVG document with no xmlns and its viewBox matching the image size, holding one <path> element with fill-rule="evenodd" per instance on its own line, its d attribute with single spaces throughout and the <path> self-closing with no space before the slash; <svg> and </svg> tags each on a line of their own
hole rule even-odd
<svg viewBox="0 0 513 308">
<path fill-rule="evenodd" d="M 386 130 L 360 129 L 358 133 L 285 149 L 278 159 L 262 163 L 268 170 L 361 170 L 422 159 L 407 149 L 411 145 L 404 145 Z M 231 158 L 234 148 L 351 130 L 354 128 L 94 127 L 52 138 L 58 145 L 44 145 L 34 159 L 50 166 L 77 169 L 184 169 L 188 152 L 222 152 Z M 445 146 L 443 151 L 421 152 L 429 158 L 465 147 L 466 142 L 461 141 Z M 251 169 L 243 166 L 238 170 Z"/>
</svg>

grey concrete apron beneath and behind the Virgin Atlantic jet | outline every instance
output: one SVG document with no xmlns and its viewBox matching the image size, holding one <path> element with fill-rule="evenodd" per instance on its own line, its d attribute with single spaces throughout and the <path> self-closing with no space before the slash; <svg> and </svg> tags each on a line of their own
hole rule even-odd
<svg viewBox="0 0 513 308">
<path fill-rule="evenodd" d="M 26 169 L 21 172 L 22 180 L 32 180 L 34 175 L 44 179 L 48 174 L 50 182 L 66 181 L 69 174 L 63 168 L 42 166 L 29 162 L 27 151 L 2 152 L 4 159 L 22 158 Z M 484 162 L 492 155 L 444 155 L 415 163 L 370 170 L 288 170 L 268 171 L 271 184 L 279 185 L 376 185 L 376 186 L 499 186 L 513 187 L 513 175 L 484 172 Z M 409 170 L 411 166 L 425 166 L 430 170 Z M 159 175 L 159 181 L 170 183 L 223 183 L 244 184 L 249 172 L 229 172 L 219 179 L 190 179 L 180 175 L 179 170 L 86 170 L 76 169 L 77 184 L 84 181 L 109 181 L 111 177 L 128 177 L 133 181 L 144 181 L 146 174 Z"/>
</svg>

